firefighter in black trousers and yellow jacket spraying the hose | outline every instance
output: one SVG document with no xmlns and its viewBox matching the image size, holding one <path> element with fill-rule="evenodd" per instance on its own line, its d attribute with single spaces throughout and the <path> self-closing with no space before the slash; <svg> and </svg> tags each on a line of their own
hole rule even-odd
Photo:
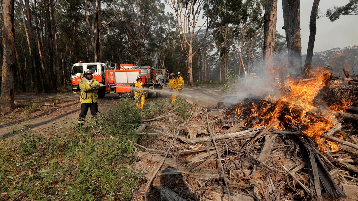
<svg viewBox="0 0 358 201">
<path fill-rule="evenodd" d="M 91 109 L 91 115 L 93 117 L 95 117 L 98 112 L 97 88 L 102 88 L 103 84 L 93 78 L 92 74 L 92 70 L 86 69 L 83 74 L 81 74 L 81 80 L 79 80 L 79 88 L 81 91 L 81 97 L 79 99 L 79 102 L 81 103 L 81 112 L 79 113 L 78 118 L 79 126 L 83 126 L 88 108 Z"/>
</svg>

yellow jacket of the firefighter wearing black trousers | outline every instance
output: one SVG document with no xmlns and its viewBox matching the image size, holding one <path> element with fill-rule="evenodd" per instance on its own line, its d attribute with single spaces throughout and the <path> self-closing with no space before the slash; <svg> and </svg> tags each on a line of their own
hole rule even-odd
<svg viewBox="0 0 358 201">
<path fill-rule="evenodd" d="M 82 77 L 82 76 L 81 76 Z M 88 84 L 85 78 L 79 80 L 79 88 L 81 89 L 81 98 L 79 99 L 80 103 L 97 103 L 98 102 L 98 95 L 97 95 L 97 88 L 93 88 L 91 85 L 101 84 L 95 78 L 92 78 L 91 84 Z"/>
</svg>

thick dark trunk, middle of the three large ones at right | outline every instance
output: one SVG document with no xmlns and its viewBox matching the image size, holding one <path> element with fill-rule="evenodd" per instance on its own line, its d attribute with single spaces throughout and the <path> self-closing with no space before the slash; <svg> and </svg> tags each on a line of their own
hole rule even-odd
<svg viewBox="0 0 358 201">
<path fill-rule="evenodd" d="M 289 73 L 297 78 L 301 74 L 302 53 L 300 33 L 300 1 L 282 0 Z"/>
</svg>

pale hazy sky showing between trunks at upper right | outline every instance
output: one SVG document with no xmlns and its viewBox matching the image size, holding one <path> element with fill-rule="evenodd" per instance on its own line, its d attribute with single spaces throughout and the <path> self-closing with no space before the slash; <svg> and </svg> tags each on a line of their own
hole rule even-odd
<svg viewBox="0 0 358 201">
<path fill-rule="evenodd" d="M 301 0 L 300 2 L 302 54 L 306 54 L 310 35 L 309 24 L 313 0 Z M 349 0 L 320 0 L 318 9 L 321 13 L 325 14 L 327 9 L 333 6 L 343 6 L 348 2 Z M 358 15 L 340 16 L 340 18 L 334 22 L 331 22 L 326 16 L 323 16 L 316 20 L 316 24 L 317 33 L 314 52 L 358 45 Z M 279 31 L 281 35 L 285 35 L 285 30 L 281 29 L 282 26 L 284 26 L 282 0 L 278 0 L 276 30 Z"/>
</svg>

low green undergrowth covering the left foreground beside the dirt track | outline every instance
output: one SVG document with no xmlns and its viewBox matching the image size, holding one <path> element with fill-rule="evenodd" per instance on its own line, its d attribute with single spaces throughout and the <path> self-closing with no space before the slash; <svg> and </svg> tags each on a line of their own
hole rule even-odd
<svg viewBox="0 0 358 201">
<path fill-rule="evenodd" d="M 64 121 L 58 129 L 0 142 L 0 188 L 5 200 L 130 200 L 138 173 L 130 171 L 129 139 L 140 112 L 121 99 L 108 114 L 83 127 Z M 56 132 L 55 132 L 56 131 Z"/>
</svg>

